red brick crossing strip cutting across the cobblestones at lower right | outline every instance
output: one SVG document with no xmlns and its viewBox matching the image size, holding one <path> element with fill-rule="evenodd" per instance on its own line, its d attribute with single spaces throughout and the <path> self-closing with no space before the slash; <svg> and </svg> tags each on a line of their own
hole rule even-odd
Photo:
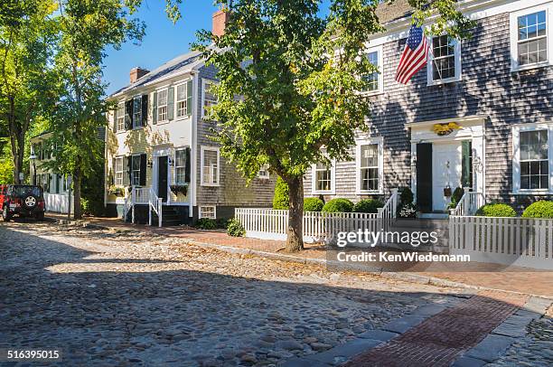
<svg viewBox="0 0 553 367">
<path fill-rule="evenodd" d="M 448 366 L 483 340 L 527 301 L 528 296 L 481 292 L 427 318 L 406 333 L 361 353 L 354 366 Z"/>
</svg>

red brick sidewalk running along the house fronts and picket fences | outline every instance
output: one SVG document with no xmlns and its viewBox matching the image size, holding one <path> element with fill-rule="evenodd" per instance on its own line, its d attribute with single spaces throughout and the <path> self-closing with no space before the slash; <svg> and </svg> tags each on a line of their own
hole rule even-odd
<svg viewBox="0 0 553 367">
<path fill-rule="evenodd" d="M 48 213 L 47 216 L 58 220 L 65 220 L 67 218 L 66 215 L 54 213 Z M 149 227 L 143 224 L 126 223 L 117 218 L 86 218 L 85 221 L 109 228 L 149 231 L 163 236 L 182 239 L 183 241 L 210 243 L 238 249 L 253 249 L 277 253 L 285 247 L 284 241 L 230 237 L 225 231 L 201 231 L 187 226 L 163 228 Z M 305 250 L 301 253 L 294 254 L 294 256 L 301 259 L 325 259 L 326 250 L 321 245 L 306 243 Z M 478 271 L 478 264 L 471 264 L 470 266 L 474 268 L 472 272 L 467 271 L 466 268 L 464 268 L 463 271 L 448 271 L 448 269 L 445 268 L 437 268 L 434 271 L 422 271 L 414 274 L 446 279 L 475 287 L 486 287 L 524 294 L 530 293 L 537 296 L 553 297 L 552 271 L 528 271 L 528 269 L 511 269 L 505 271 L 505 269 L 499 265 L 495 266 L 495 268 L 497 268 L 496 271 Z M 486 264 L 486 267 L 491 268 L 491 265 Z"/>
</svg>

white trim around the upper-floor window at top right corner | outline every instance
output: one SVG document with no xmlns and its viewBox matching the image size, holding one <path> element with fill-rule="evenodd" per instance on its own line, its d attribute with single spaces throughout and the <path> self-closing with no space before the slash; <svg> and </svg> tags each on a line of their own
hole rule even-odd
<svg viewBox="0 0 553 367">
<path fill-rule="evenodd" d="M 542 10 L 546 12 L 546 35 L 548 37 L 548 60 L 532 63 L 528 65 L 519 66 L 519 29 L 518 29 L 518 18 L 521 15 L 527 15 L 532 13 L 538 13 Z M 553 4 L 544 4 L 529 7 L 518 12 L 513 12 L 509 14 L 509 33 L 511 38 L 511 72 L 515 71 L 525 71 L 529 69 L 542 68 L 544 66 L 553 65 L 553 27 L 551 22 L 553 21 Z"/>
</svg>

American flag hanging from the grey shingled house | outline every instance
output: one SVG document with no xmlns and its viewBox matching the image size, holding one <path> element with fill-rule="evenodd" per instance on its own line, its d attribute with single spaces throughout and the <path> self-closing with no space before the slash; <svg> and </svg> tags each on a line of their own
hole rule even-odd
<svg viewBox="0 0 553 367">
<path fill-rule="evenodd" d="M 407 84 L 413 75 L 426 64 L 428 56 L 428 44 L 421 27 L 411 26 L 405 50 L 399 59 L 396 80 Z"/>
</svg>

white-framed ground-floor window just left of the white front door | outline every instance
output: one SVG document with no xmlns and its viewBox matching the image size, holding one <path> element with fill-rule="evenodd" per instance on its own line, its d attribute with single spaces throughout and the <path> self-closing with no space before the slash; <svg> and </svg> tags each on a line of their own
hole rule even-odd
<svg viewBox="0 0 553 367">
<path fill-rule="evenodd" d="M 383 171 L 383 139 L 358 140 L 355 160 L 357 166 L 357 194 L 381 193 Z"/>
</svg>

